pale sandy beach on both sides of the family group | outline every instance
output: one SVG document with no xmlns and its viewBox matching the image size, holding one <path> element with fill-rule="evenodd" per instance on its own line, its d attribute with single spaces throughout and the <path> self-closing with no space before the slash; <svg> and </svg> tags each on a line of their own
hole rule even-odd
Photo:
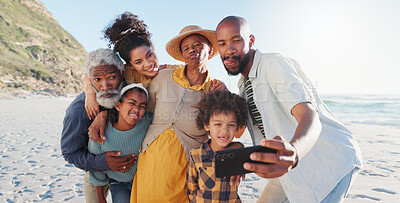
<svg viewBox="0 0 400 203">
<path fill-rule="evenodd" d="M 0 100 L 2 202 L 84 201 L 83 171 L 64 160 L 59 144 L 72 99 Z M 345 202 L 400 202 L 400 128 L 346 125 L 360 144 L 364 168 Z M 248 135 L 240 141 L 250 145 Z M 239 188 L 243 202 L 255 202 L 267 182 L 247 175 Z"/>
</svg>

